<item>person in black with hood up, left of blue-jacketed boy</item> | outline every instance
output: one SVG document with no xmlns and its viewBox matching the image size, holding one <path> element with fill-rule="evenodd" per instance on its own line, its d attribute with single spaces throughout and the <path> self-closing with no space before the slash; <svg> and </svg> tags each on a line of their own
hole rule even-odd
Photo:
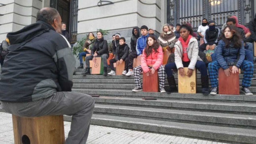
<svg viewBox="0 0 256 144">
<path fill-rule="evenodd" d="M 137 52 L 136 52 L 136 46 L 137 46 L 137 40 L 140 37 L 140 29 L 139 27 L 133 27 L 133 36 L 131 36 L 131 50 L 128 57 L 128 69 L 131 71 L 133 70 L 133 59 L 137 58 Z"/>
</svg>

